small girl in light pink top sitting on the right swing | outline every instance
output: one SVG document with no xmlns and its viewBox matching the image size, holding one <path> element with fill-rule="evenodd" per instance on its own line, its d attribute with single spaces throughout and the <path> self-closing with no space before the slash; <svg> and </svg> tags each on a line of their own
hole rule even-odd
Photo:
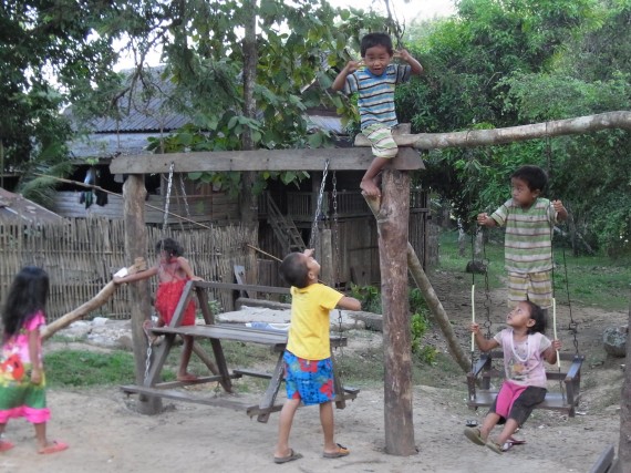
<svg viewBox="0 0 631 473">
<path fill-rule="evenodd" d="M 532 409 L 546 398 L 546 369 L 544 360 L 557 362 L 559 340 L 550 341 L 546 331 L 544 310 L 529 300 L 523 300 L 506 317 L 505 328 L 492 339 L 486 339 L 479 326 L 470 325 L 475 342 L 480 351 L 490 351 L 501 347 L 506 379 L 492 404 L 480 428 L 465 429 L 465 435 L 478 445 L 486 445 L 495 453 L 503 453 L 513 434 L 530 417 Z M 490 431 L 495 425 L 504 429 L 492 440 Z"/>
</svg>

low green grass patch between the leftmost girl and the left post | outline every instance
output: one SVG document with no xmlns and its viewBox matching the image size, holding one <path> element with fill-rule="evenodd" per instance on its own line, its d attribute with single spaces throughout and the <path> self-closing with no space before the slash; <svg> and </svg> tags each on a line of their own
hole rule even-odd
<svg viewBox="0 0 631 473">
<path fill-rule="evenodd" d="M 87 388 L 128 383 L 135 379 L 134 357 L 127 351 L 102 353 L 59 350 L 44 356 L 46 383 L 61 388 Z"/>
</svg>

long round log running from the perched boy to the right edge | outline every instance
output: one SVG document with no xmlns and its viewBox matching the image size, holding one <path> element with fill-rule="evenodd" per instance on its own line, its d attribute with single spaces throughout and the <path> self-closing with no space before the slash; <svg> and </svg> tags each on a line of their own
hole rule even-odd
<svg viewBox="0 0 631 473">
<path fill-rule="evenodd" d="M 416 150 L 442 150 L 445 147 L 492 146 L 547 136 L 579 135 L 607 128 L 631 130 L 631 112 L 608 112 L 507 128 L 393 136 L 399 146 L 412 146 Z M 370 146 L 370 142 L 364 135 L 359 134 L 355 137 L 355 146 Z"/>
</svg>

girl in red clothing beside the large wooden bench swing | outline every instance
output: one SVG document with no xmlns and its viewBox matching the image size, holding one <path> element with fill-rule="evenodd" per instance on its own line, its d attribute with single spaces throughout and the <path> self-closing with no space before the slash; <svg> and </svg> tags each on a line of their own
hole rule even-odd
<svg viewBox="0 0 631 473">
<path fill-rule="evenodd" d="M 200 277 L 195 276 L 190 264 L 182 255 L 184 250 L 173 238 L 165 238 L 156 244 L 156 253 L 159 260 L 156 266 L 146 271 L 135 273 L 123 277 L 114 276 L 114 284 L 134 282 L 142 279 L 148 279 L 152 276 L 158 277 L 158 288 L 155 297 L 155 308 L 158 312 L 157 327 L 168 326 L 182 297 L 184 286 L 189 280 L 198 281 Z M 146 327 L 151 326 L 147 320 Z M 195 301 L 189 300 L 182 320 L 183 326 L 195 325 Z M 188 372 L 188 362 L 193 353 L 193 337 L 183 336 L 184 348 L 182 349 L 182 359 L 177 372 L 178 381 L 195 381 L 197 377 Z M 153 341 L 153 340 L 152 340 Z"/>
</svg>

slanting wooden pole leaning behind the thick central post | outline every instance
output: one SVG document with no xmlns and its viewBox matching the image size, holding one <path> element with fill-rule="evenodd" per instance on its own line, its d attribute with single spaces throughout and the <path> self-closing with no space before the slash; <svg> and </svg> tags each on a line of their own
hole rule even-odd
<svg viewBox="0 0 631 473">
<path fill-rule="evenodd" d="M 380 213 L 379 199 L 366 198 L 366 203 L 371 208 L 372 213 L 374 214 L 374 216 L 377 217 Z M 421 289 L 421 292 L 423 294 L 423 297 L 425 298 L 425 301 L 427 302 L 427 306 L 430 307 L 430 310 L 434 316 L 434 320 L 436 320 L 436 322 L 438 323 L 438 327 L 441 328 L 441 331 L 443 332 L 443 336 L 447 341 L 447 348 L 449 350 L 449 353 L 452 354 L 456 363 L 458 363 L 458 366 L 463 369 L 463 371 L 465 373 L 468 373 L 470 371 L 472 361 L 461 348 L 458 339 L 456 338 L 456 335 L 454 333 L 454 330 L 452 328 L 452 322 L 447 317 L 447 312 L 445 312 L 445 309 L 443 308 L 443 305 L 441 304 L 438 296 L 436 296 L 436 292 L 432 287 L 432 282 L 430 282 L 427 275 L 423 270 L 423 265 L 421 265 L 421 261 L 418 260 L 418 257 L 414 253 L 414 248 L 412 247 L 412 245 L 410 245 L 410 243 L 407 243 L 406 256 L 407 256 L 407 269 L 410 270 L 412 278 L 416 282 L 416 286 L 418 287 L 418 289 Z"/>
</svg>

